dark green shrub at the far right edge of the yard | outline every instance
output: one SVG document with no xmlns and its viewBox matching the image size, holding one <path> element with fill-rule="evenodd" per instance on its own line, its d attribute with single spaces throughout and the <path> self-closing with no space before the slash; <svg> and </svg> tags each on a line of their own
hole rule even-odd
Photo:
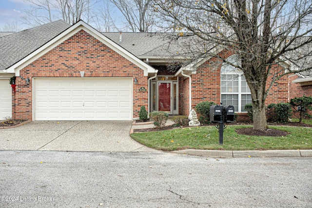
<svg viewBox="0 0 312 208">
<path fill-rule="evenodd" d="M 292 105 L 293 112 L 299 113 L 299 116 L 296 114 L 294 115 L 299 118 L 299 123 L 301 123 L 304 117 L 309 117 L 309 114 L 306 112 L 306 110 L 312 110 L 312 97 L 307 97 L 304 95 L 300 98 L 293 98 L 291 99 L 290 104 Z"/>
</svg>

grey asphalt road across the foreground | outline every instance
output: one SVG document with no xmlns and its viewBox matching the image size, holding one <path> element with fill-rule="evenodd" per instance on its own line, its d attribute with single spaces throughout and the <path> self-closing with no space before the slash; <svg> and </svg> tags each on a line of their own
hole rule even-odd
<svg viewBox="0 0 312 208">
<path fill-rule="evenodd" d="M 312 207 L 312 157 L 0 151 L 0 207 Z"/>
</svg>

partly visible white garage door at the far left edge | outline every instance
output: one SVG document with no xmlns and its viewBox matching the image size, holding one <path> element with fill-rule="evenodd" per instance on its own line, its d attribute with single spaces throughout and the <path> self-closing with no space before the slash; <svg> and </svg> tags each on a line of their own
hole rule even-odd
<svg viewBox="0 0 312 208">
<path fill-rule="evenodd" d="M 12 88 L 8 79 L 0 80 L 0 120 L 12 117 Z"/>
</svg>

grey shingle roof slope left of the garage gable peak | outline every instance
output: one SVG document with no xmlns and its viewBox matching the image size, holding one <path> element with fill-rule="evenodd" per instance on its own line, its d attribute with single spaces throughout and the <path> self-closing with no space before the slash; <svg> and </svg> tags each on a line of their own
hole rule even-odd
<svg viewBox="0 0 312 208">
<path fill-rule="evenodd" d="M 20 61 L 70 26 L 59 20 L 0 37 L 0 70 Z"/>
</svg>

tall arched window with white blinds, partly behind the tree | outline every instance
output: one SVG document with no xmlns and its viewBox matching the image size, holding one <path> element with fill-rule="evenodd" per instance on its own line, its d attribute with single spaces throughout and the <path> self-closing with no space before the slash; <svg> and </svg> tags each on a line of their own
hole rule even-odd
<svg viewBox="0 0 312 208">
<path fill-rule="evenodd" d="M 236 55 L 230 56 L 227 61 L 239 64 Z M 223 105 L 233 105 L 235 112 L 246 112 L 245 105 L 252 103 L 244 74 L 229 63 L 221 66 L 221 101 Z"/>
</svg>

